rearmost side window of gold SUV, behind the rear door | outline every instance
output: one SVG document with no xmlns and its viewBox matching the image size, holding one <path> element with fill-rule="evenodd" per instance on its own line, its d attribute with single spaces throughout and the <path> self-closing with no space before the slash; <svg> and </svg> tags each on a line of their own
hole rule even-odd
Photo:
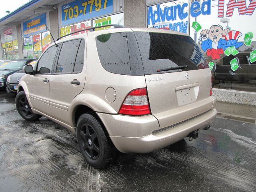
<svg viewBox="0 0 256 192">
<path fill-rule="evenodd" d="M 99 35 L 96 37 L 96 46 L 105 70 L 131 75 L 126 32 Z"/>
</svg>

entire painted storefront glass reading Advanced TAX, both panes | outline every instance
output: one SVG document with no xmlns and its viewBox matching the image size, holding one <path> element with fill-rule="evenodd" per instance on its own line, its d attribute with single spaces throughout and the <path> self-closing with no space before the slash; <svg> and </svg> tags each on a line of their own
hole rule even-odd
<svg viewBox="0 0 256 192">
<path fill-rule="evenodd" d="M 256 92 L 255 9 L 250 0 L 176 0 L 148 6 L 147 22 L 190 34 L 204 52 L 214 88 Z"/>
</svg>

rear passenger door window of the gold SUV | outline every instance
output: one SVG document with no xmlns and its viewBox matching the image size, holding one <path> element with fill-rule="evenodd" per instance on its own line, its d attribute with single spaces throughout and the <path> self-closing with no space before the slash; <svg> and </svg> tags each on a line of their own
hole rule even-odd
<svg viewBox="0 0 256 192">
<path fill-rule="evenodd" d="M 80 39 L 67 41 L 62 44 L 57 63 L 56 73 L 72 73 Z"/>
</svg>

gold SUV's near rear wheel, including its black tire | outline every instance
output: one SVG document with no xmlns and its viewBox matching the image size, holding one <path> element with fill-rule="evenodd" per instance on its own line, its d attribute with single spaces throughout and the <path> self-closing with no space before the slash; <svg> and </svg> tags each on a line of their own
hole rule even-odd
<svg viewBox="0 0 256 192">
<path fill-rule="evenodd" d="M 117 150 L 103 125 L 92 114 L 85 113 L 80 116 L 76 137 L 84 159 L 94 168 L 106 168 L 114 159 Z"/>
</svg>

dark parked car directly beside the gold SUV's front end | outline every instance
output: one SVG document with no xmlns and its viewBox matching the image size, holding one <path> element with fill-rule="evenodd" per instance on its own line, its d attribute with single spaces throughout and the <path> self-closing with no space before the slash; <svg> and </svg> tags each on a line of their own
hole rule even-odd
<svg viewBox="0 0 256 192">
<path fill-rule="evenodd" d="M 37 60 L 34 60 L 29 65 L 32 65 L 33 68 L 36 66 Z M 17 71 L 16 73 L 8 76 L 7 82 L 6 82 L 6 92 L 8 93 L 17 93 L 18 90 L 18 84 L 20 82 L 20 78 L 24 76 L 26 73 L 24 72 L 24 69 Z"/>
</svg>

